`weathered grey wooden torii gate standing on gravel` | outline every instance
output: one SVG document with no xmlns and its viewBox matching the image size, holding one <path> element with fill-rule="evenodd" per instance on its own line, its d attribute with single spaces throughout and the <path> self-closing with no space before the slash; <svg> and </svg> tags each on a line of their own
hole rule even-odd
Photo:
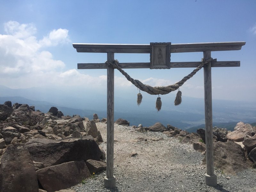
<svg viewBox="0 0 256 192">
<path fill-rule="evenodd" d="M 107 53 L 107 61 L 114 61 L 114 53 L 150 53 L 150 63 L 119 63 L 121 68 L 197 68 L 201 62 L 170 62 L 171 53 L 203 52 L 204 59 L 211 58 L 211 51 L 240 50 L 245 42 L 215 43 L 150 43 L 150 44 L 73 44 L 77 52 Z M 164 61 L 157 61 L 159 49 Z M 204 66 L 204 114 L 206 140 L 205 184 L 217 185 L 217 176 L 213 165 L 212 138 L 212 67 L 240 67 L 240 61 L 212 60 Z M 107 172 L 104 178 L 105 188 L 115 188 L 114 169 L 114 68 L 106 63 L 78 63 L 77 69 L 107 69 Z"/>
</svg>

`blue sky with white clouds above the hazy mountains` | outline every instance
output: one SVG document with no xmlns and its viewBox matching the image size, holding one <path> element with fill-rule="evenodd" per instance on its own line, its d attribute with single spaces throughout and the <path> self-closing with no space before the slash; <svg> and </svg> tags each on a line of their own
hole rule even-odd
<svg viewBox="0 0 256 192">
<path fill-rule="evenodd" d="M 212 58 L 218 61 L 241 61 L 241 67 L 212 68 L 212 97 L 255 101 L 254 0 L 0 0 L 0 4 L 0 84 L 4 86 L 72 87 L 106 94 L 107 71 L 77 70 L 77 63 L 102 63 L 107 60 L 107 54 L 77 53 L 72 43 L 245 41 L 240 51 L 212 52 Z M 171 55 L 171 61 L 200 61 L 202 57 L 202 52 L 176 53 Z M 115 54 L 115 58 L 120 62 L 149 62 L 149 54 Z M 192 70 L 125 71 L 145 84 L 161 86 L 180 81 Z M 203 98 L 203 86 L 201 70 L 180 90 L 182 95 Z M 137 88 L 115 71 L 116 95 L 136 97 L 137 92 Z"/>
</svg>

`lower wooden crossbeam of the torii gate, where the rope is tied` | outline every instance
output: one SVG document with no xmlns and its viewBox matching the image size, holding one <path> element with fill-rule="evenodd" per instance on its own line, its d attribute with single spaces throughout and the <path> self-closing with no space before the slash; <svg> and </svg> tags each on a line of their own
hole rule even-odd
<svg viewBox="0 0 256 192">
<path fill-rule="evenodd" d="M 171 68 L 196 68 L 201 62 L 171 62 Z M 150 68 L 150 63 L 119 63 L 123 69 Z M 212 67 L 240 67 L 240 61 L 212 61 Z M 78 63 L 77 69 L 106 69 L 106 63 Z"/>
</svg>

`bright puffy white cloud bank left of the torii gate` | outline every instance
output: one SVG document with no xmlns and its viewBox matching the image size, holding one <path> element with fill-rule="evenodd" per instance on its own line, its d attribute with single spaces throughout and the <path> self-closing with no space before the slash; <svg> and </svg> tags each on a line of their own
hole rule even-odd
<svg viewBox="0 0 256 192">
<path fill-rule="evenodd" d="M 68 42 L 67 29 L 54 29 L 42 40 L 37 40 L 34 24 L 9 21 L 4 24 L 6 34 L 0 34 L 0 76 L 26 76 L 64 68 L 64 62 L 54 60 L 52 54 L 42 50 Z"/>
</svg>

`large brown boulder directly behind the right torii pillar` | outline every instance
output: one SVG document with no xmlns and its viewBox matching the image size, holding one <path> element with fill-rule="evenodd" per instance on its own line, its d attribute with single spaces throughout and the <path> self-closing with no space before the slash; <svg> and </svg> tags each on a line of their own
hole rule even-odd
<svg viewBox="0 0 256 192">
<path fill-rule="evenodd" d="M 247 169 L 245 154 L 240 145 L 233 141 L 214 142 L 214 167 L 217 167 L 227 174 L 236 174 Z M 206 157 L 203 159 L 206 163 Z"/>
</svg>

